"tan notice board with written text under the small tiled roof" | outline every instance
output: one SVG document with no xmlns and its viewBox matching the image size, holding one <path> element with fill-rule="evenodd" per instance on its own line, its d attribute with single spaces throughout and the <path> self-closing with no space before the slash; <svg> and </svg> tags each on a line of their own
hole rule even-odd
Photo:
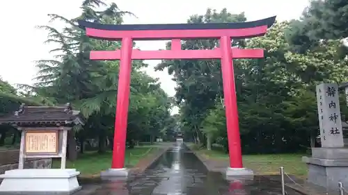
<svg viewBox="0 0 348 195">
<path fill-rule="evenodd" d="M 25 154 L 58 154 L 58 130 L 27 130 L 24 136 Z"/>
</svg>

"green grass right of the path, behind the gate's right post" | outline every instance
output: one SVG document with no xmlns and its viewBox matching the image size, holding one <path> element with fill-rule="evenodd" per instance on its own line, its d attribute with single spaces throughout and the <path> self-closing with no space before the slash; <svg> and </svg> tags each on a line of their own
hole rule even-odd
<svg viewBox="0 0 348 195">
<path fill-rule="evenodd" d="M 228 160 L 228 154 L 221 151 L 200 150 L 198 153 L 212 160 Z M 293 174 L 299 178 L 306 178 L 306 163 L 301 157 L 306 154 L 258 154 L 243 155 L 244 167 L 253 169 L 259 175 L 274 175 L 279 173 L 279 167 L 284 167 L 287 174 Z"/>
</svg>

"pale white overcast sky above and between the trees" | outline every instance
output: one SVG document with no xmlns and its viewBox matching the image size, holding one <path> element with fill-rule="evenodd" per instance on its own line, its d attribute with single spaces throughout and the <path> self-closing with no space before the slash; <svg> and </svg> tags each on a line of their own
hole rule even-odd
<svg viewBox="0 0 348 195">
<path fill-rule="evenodd" d="M 112 2 L 109 0 L 108 2 Z M 245 12 L 248 21 L 276 15 L 278 20 L 299 18 L 308 6 L 308 0 L 124 0 L 116 1 L 121 10 L 133 12 L 136 17 L 125 17 L 125 24 L 171 24 L 186 23 L 190 15 L 204 14 L 207 8 L 229 12 Z M 33 61 L 52 58 L 48 51 L 54 45 L 42 44 L 47 32 L 35 28 L 48 22 L 47 14 L 64 17 L 79 15 L 80 0 L 19 0 L 1 2 L 1 69 L 0 76 L 11 84 L 32 84 L 37 69 Z M 17 14 L 17 15 L 15 15 Z M 163 41 L 137 42 L 143 50 L 164 49 Z M 145 71 L 161 81 L 162 88 L 170 95 L 175 94 L 175 83 L 167 71 L 155 72 L 153 67 L 159 61 L 148 61 Z"/>
</svg>

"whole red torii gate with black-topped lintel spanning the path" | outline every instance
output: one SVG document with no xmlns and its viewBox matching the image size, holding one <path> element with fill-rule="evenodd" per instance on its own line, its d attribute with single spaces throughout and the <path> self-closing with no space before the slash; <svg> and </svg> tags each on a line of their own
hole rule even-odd
<svg viewBox="0 0 348 195">
<path fill-rule="evenodd" d="M 90 51 L 90 60 L 120 60 L 116 105 L 115 135 L 111 169 L 122 169 L 125 164 L 125 142 L 129 106 L 129 87 L 132 60 L 221 59 L 223 94 L 226 105 L 226 124 L 230 168 L 243 169 L 239 135 L 237 97 L 232 60 L 263 58 L 262 49 L 231 48 L 231 38 L 251 38 L 267 33 L 276 17 L 253 22 L 219 24 L 98 24 L 79 20 L 86 35 L 103 40 L 121 40 L 116 51 Z M 183 39 L 219 39 L 220 47 L 212 50 L 182 50 Z M 133 48 L 134 40 L 171 40 L 171 50 L 141 51 Z"/>
</svg>

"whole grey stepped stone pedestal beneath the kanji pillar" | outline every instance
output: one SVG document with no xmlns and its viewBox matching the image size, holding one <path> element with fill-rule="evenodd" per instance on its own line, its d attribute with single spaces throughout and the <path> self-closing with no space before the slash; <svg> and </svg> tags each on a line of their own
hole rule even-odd
<svg viewBox="0 0 348 195">
<path fill-rule="evenodd" d="M 348 186 L 348 149 L 313 148 L 312 158 L 302 160 L 308 164 L 308 182 L 331 190 L 340 182 Z"/>
</svg>

